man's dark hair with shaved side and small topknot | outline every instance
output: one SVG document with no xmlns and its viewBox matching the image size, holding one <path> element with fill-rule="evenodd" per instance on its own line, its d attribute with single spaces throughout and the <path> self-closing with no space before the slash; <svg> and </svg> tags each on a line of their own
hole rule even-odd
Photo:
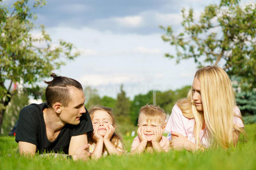
<svg viewBox="0 0 256 170">
<path fill-rule="evenodd" d="M 82 90 L 82 85 L 77 82 L 77 80 L 68 78 L 65 76 L 56 76 L 55 73 L 51 74 L 53 80 L 47 82 L 44 80 L 44 83 L 47 83 L 46 88 L 46 101 L 49 107 L 52 107 L 53 103 L 60 102 L 64 107 L 68 106 L 70 99 L 69 88 L 76 87 L 79 90 Z"/>
</svg>

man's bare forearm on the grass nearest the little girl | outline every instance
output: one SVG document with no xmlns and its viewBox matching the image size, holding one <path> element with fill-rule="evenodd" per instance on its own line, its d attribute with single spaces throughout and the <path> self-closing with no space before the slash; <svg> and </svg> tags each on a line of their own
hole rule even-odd
<svg viewBox="0 0 256 170">
<path fill-rule="evenodd" d="M 73 160 L 87 160 L 90 157 L 89 148 L 87 142 L 87 134 L 81 134 L 71 137 L 69 143 L 68 155 L 72 155 Z"/>
</svg>

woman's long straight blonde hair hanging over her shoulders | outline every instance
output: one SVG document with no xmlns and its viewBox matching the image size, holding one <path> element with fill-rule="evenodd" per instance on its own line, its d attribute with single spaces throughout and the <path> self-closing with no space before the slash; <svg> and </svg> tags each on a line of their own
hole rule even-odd
<svg viewBox="0 0 256 170">
<path fill-rule="evenodd" d="M 177 105 L 185 117 L 195 119 L 194 134 L 197 147 L 200 145 L 199 133 L 204 121 L 212 147 L 232 146 L 233 128 L 242 132 L 243 130 L 233 123 L 236 100 L 228 74 L 220 67 L 207 66 L 197 70 L 195 78 L 200 81 L 204 111 L 197 111 L 191 91 L 187 99 L 179 100 Z"/>
</svg>

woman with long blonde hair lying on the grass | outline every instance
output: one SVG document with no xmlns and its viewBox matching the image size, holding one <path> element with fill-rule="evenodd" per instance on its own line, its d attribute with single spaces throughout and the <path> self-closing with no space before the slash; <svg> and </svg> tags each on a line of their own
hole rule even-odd
<svg viewBox="0 0 256 170">
<path fill-rule="evenodd" d="M 243 128 L 229 76 L 216 66 L 196 71 L 191 91 L 174 106 L 166 125 L 171 147 L 192 151 L 236 146 Z"/>
</svg>

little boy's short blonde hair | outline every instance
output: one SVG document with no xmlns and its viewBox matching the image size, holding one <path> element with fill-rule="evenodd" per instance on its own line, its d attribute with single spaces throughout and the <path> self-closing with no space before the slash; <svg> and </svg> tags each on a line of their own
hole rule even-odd
<svg viewBox="0 0 256 170">
<path fill-rule="evenodd" d="M 161 124 L 164 124 L 164 121 L 166 121 L 166 113 L 164 113 L 164 110 L 161 109 L 158 105 L 145 105 L 141 107 L 139 110 L 139 120 L 141 119 L 141 115 L 144 115 L 147 117 L 147 121 L 156 121 L 158 120 Z"/>
</svg>

